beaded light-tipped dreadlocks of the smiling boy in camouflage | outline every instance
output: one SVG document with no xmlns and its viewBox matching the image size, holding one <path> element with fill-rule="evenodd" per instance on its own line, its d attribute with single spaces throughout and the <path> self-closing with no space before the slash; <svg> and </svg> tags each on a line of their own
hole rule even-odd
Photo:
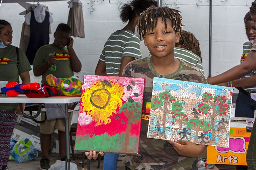
<svg viewBox="0 0 256 170">
<path fill-rule="evenodd" d="M 158 17 L 162 18 L 162 22 L 165 22 L 165 29 L 167 29 L 166 21 L 170 19 L 172 22 L 172 27 L 175 32 L 182 31 L 182 16 L 179 10 L 169 8 L 168 6 L 156 7 L 150 6 L 147 10 L 141 13 L 140 19 L 138 21 L 138 31 L 145 37 L 148 30 L 152 30 L 156 27 Z"/>
</svg>

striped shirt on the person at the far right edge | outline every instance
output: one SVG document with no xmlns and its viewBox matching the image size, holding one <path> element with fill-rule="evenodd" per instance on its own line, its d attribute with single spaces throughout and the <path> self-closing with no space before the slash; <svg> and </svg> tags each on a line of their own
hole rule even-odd
<svg viewBox="0 0 256 170">
<path fill-rule="evenodd" d="M 241 60 L 240 60 L 240 63 L 243 63 L 243 61 L 245 60 L 248 52 L 251 50 L 252 48 L 252 43 L 250 41 L 247 41 L 244 43 L 243 45 L 243 54 L 241 56 Z M 245 75 L 244 77 L 242 78 L 246 78 L 246 77 L 251 77 L 251 76 L 254 76 L 256 73 L 256 69 L 253 70 L 252 72 L 250 72 L 249 74 Z M 242 79 L 241 78 L 241 79 Z M 245 91 L 256 91 L 256 85 L 255 86 L 251 86 L 251 87 L 242 87 Z"/>
</svg>

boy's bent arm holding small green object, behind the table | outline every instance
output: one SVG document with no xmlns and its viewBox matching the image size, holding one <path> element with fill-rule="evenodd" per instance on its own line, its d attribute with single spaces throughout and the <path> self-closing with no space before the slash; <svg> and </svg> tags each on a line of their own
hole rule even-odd
<svg viewBox="0 0 256 170">
<path fill-rule="evenodd" d="M 51 65 L 55 64 L 57 61 L 54 57 L 55 52 L 53 52 L 53 55 L 49 56 L 48 60 L 45 61 L 43 64 L 33 68 L 34 76 L 41 76 L 43 73 L 51 67 Z M 37 55 L 37 54 L 35 54 Z"/>
</svg>

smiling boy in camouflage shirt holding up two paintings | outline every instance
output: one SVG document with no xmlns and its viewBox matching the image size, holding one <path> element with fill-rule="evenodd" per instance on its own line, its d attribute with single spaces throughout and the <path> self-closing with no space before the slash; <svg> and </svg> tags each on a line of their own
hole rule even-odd
<svg viewBox="0 0 256 170">
<path fill-rule="evenodd" d="M 174 57 L 174 46 L 179 43 L 182 31 L 180 11 L 169 7 L 151 6 L 138 22 L 138 31 L 151 56 L 134 60 L 124 67 L 124 77 L 145 78 L 143 114 L 146 103 L 151 102 L 153 78 L 167 78 L 206 83 L 203 73 L 195 66 Z M 144 116 L 143 116 L 144 117 Z M 189 141 L 166 141 L 147 138 L 148 119 L 142 118 L 139 155 L 126 155 L 123 163 L 128 169 L 197 169 L 197 156 L 206 148 Z M 86 152 L 88 158 L 96 158 L 102 152 Z"/>
</svg>

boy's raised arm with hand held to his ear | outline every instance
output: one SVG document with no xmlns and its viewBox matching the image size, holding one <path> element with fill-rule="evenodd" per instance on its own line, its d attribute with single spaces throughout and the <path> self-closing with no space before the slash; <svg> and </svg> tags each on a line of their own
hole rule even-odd
<svg viewBox="0 0 256 170">
<path fill-rule="evenodd" d="M 70 43 L 67 45 L 67 49 L 68 49 L 69 55 L 70 55 L 71 69 L 74 72 L 79 72 L 79 71 L 81 71 L 82 64 L 81 64 L 79 58 L 77 57 L 75 50 L 73 49 L 73 44 L 74 44 L 74 39 L 72 37 L 70 37 Z"/>
</svg>

